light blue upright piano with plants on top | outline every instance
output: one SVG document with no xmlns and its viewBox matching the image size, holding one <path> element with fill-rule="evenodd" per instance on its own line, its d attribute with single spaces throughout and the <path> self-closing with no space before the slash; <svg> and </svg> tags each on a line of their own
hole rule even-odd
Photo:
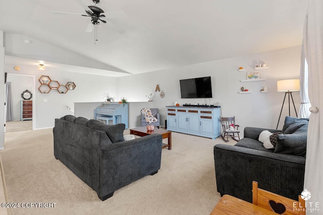
<svg viewBox="0 0 323 215">
<path fill-rule="evenodd" d="M 128 128 L 128 104 L 119 104 L 118 102 L 102 102 L 94 110 L 94 119 L 105 120 L 106 124 L 112 120 L 113 124 L 124 123 Z"/>
</svg>

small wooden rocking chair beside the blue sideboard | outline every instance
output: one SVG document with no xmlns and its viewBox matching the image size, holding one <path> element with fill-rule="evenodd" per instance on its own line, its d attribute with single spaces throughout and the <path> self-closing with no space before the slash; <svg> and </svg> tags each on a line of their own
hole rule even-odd
<svg viewBox="0 0 323 215">
<path fill-rule="evenodd" d="M 221 125 L 223 129 L 223 132 L 221 134 L 222 139 L 226 142 L 229 142 L 229 136 L 230 136 L 232 139 L 239 141 L 240 140 L 240 136 L 239 136 L 240 131 L 238 130 L 239 125 L 235 124 L 235 117 L 234 116 L 221 117 L 220 119 L 221 119 Z"/>
</svg>

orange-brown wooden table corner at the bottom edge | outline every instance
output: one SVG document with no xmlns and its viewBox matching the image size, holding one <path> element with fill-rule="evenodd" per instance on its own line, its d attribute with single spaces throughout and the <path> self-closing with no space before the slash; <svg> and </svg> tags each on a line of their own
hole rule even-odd
<svg viewBox="0 0 323 215">
<path fill-rule="evenodd" d="M 259 207 L 250 202 L 223 195 L 218 204 L 214 207 L 210 215 L 250 215 L 250 214 L 276 214 L 274 211 Z"/>
</svg>

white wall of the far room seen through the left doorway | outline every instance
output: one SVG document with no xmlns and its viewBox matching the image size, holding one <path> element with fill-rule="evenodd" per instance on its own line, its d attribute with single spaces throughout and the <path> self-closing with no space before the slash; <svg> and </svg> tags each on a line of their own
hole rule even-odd
<svg viewBox="0 0 323 215">
<path fill-rule="evenodd" d="M 33 78 L 23 77 L 23 76 L 11 76 L 8 74 L 7 83 L 11 82 L 12 91 L 12 107 L 13 107 L 13 120 L 20 120 L 20 101 L 21 93 L 25 90 L 29 90 L 32 94 L 33 92 Z M 33 98 L 31 98 L 33 100 Z"/>
</svg>

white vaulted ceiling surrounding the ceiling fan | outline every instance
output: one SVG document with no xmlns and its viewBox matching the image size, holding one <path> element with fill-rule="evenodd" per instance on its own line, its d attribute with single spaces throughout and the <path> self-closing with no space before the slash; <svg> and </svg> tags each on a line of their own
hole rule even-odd
<svg viewBox="0 0 323 215">
<path fill-rule="evenodd" d="M 94 45 L 94 31 L 85 32 L 89 17 L 52 13 L 86 14 L 79 1 L 94 5 L 1 0 L 0 30 L 82 55 L 107 70 L 139 74 L 300 45 L 308 5 L 308 0 L 101 0 L 96 6 L 106 15 L 124 11 L 127 17 L 101 23 Z"/>
</svg>

